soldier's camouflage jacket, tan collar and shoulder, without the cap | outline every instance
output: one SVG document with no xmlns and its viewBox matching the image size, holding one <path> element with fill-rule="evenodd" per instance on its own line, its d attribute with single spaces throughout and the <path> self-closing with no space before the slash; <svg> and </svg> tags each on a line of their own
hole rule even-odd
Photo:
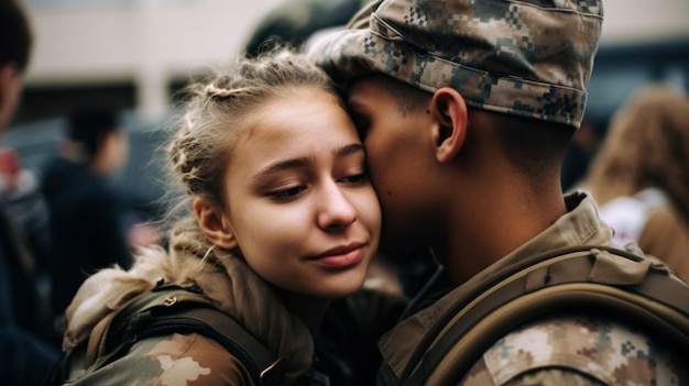
<svg viewBox="0 0 689 386">
<path fill-rule="evenodd" d="M 383 355 L 379 384 L 398 383 L 414 348 L 444 309 L 467 296 L 473 282 L 539 252 L 611 243 L 613 232 L 599 219 L 593 199 L 575 192 L 566 197 L 566 202 L 569 212 L 550 228 L 385 334 L 379 343 Z M 457 381 L 463 386 L 687 384 L 687 371 L 677 361 L 678 355 L 672 356 L 669 348 L 656 345 L 631 326 L 586 315 L 557 315 L 500 339 L 463 379 Z"/>
</svg>

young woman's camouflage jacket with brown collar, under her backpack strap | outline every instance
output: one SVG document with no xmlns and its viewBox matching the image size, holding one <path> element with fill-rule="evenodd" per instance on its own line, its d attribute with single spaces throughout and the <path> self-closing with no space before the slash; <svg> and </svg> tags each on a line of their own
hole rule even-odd
<svg viewBox="0 0 689 386">
<path fill-rule="evenodd" d="M 193 272 L 185 283 L 176 284 L 193 286 L 195 291 L 203 293 L 217 309 L 242 324 L 276 357 L 284 359 L 285 384 L 294 382 L 311 364 L 314 342 L 310 332 L 243 261 L 219 256 L 217 252 L 214 254 L 214 264 Z M 176 262 L 198 265 L 197 258 L 188 256 Z M 129 272 L 103 269 L 89 277 L 67 310 L 69 324 L 64 349 L 83 346 L 99 320 L 121 309 L 128 298 L 142 291 L 141 288 L 134 289 L 136 272 L 163 274 L 168 268 L 164 264 L 152 264 L 149 258 L 138 261 Z M 175 283 L 173 278 L 166 282 Z M 95 372 L 84 371 L 83 366 L 70 368 L 70 381 L 65 385 L 253 385 L 250 374 L 237 357 L 220 343 L 198 333 L 143 339 L 119 359 Z"/>
</svg>

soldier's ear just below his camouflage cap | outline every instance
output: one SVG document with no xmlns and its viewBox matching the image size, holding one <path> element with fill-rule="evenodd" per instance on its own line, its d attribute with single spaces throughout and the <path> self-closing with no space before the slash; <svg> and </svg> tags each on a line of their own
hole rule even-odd
<svg viewBox="0 0 689 386">
<path fill-rule="evenodd" d="M 467 136 L 467 103 L 457 90 L 444 87 L 430 100 L 430 114 L 436 121 L 433 137 L 436 158 L 446 163 L 455 158 Z"/>
</svg>

